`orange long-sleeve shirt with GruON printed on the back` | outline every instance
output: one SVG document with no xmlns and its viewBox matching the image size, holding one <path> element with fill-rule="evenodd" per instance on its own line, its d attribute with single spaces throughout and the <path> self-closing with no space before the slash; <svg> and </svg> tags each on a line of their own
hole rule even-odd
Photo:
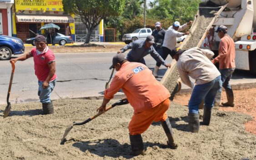
<svg viewBox="0 0 256 160">
<path fill-rule="evenodd" d="M 134 108 L 134 113 L 156 107 L 171 96 L 146 65 L 136 62 L 125 62 L 121 65 L 110 87 L 105 90 L 104 97 L 112 99 L 120 88 Z"/>
</svg>

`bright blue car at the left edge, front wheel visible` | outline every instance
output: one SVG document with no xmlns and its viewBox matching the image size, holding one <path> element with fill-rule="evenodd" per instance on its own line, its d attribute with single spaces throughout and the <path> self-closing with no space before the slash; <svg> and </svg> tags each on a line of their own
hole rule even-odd
<svg viewBox="0 0 256 160">
<path fill-rule="evenodd" d="M 22 54 L 24 50 L 21 39 L 0 35 L 0 60 L 9 60 L 12 54 Z"/>
</svg>

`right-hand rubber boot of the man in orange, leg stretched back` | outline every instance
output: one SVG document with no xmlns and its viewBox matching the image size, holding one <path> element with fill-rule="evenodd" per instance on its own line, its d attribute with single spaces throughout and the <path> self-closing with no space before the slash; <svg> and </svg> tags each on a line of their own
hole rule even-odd
<svg viewBox="0 0 256 160">
<path fill-rule="evenodd" d="M 161 121 L 161 125 L 166 132 L 166 136 L 168 138 L 167 145 L 169 145 L 173 149 L 176 149 L 178 145 L 174 142 L 173 131 L 171 129 L 171 123 L 169 121 L 169 118 L 167 118 L 166 121 Z"/>
</svg>

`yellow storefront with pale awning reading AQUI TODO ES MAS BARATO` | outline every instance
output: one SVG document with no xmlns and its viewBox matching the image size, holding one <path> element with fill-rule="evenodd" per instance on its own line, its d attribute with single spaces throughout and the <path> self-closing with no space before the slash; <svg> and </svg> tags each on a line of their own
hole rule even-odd
<svg viewBox="0 0 256 160">
<path fill-rule="evenodd" d="M 40 28 L 49 23 L 60 27 L 56 32 L 71 35 L 75 40 L 74 15 L 65 14 L 62 0 L 15 0 L 13 13 L 13 36 L 23 41 L 35 34 L 45 34 Z"/>
</svg>

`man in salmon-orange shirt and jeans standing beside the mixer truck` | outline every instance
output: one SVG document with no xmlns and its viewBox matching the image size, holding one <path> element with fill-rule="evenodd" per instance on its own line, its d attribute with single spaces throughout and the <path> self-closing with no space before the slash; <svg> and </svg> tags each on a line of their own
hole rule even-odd
<svg viewBox="0 0 256 160">
<path fill-rule="evenodd" d="M 219 55 L 212 59 L 213 64 L 219 62 L 219 71 L 221 73 L 222 87 L 225 88 L 227 102 L 221 103 L 223 106 L 234 107 L 234 94 L 232 87 L 229 84 L 229 81 L 232 77 L 232 74 L 235 71 L 235 43 L 234 40 L 227 34 L 227 27 L 225 25 L 220 25 L 215 31 L 218 33 L 219 38 L 221 39 L 219 45 Z M 215 101 L 214 109 L 218 110 L 221 102 L 221 88 L 218 91 Z"/>
</svg>

